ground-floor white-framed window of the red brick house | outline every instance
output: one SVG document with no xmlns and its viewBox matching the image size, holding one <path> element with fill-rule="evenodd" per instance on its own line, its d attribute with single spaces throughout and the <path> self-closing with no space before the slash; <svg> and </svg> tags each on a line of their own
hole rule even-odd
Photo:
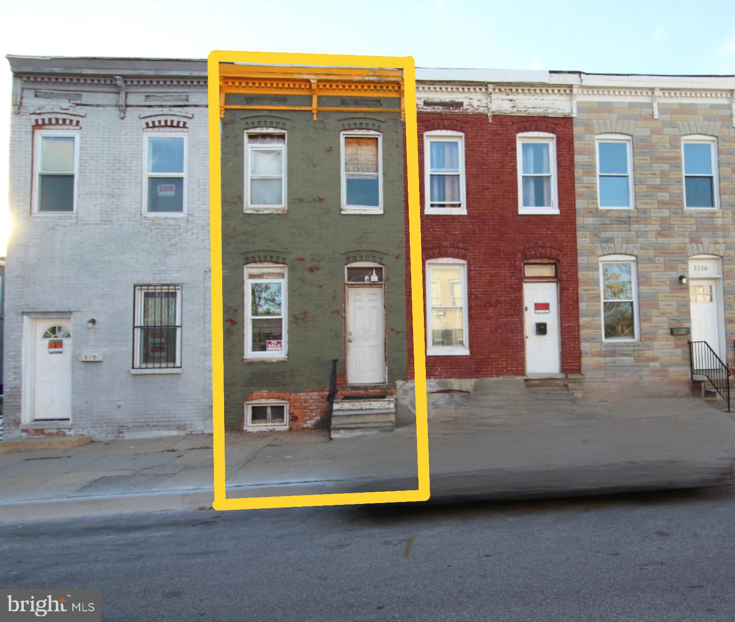
<svg viewBox="0 0 735 622">
<path fill-rule="evenodd" d="M 426 353 L 467 355 L 467 264 L 460 259 L 426 262 Z"/>
</svg>

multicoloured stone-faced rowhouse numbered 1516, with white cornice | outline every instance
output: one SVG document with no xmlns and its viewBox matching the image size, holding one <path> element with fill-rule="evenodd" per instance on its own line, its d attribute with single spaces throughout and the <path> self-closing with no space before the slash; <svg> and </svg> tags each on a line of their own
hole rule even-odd
<svg viewBox="0 0 735 622">
<path fill-rule="evenodd" d="M 684 394 L 688 341 L 706 342 L 732 364 L 734 88 L 724 76 L 580 76 L 574 145 L 587 391 Z"/>
</svg>

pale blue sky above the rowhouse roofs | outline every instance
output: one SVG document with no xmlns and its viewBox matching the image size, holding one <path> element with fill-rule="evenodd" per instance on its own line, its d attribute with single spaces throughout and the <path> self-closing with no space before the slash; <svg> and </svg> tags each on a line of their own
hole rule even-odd
<svg viewBox="0 0 735 622">
<path fill-rule="evenodd" d="M 206 58 L 212 49 L 229 49 L 410 55 L 419 67 L 735 74 L 733 0 L 5 4 L 0 23 L 3 54 Z M 0 251 L 7 228 L 1 219 L 7 205 L 7 62 L 4 72 Z"/>
</svg>

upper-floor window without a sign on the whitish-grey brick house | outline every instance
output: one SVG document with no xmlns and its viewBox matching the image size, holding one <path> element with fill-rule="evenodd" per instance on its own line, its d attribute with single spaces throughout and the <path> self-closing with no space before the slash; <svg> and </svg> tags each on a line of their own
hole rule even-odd
<svg viewBox="0 0 735 622">
<path fill-rule="evenodd" d="M 79 133 L 36 131 L 33 211 L 37 214 L 76 211 Z"/>
</svg>

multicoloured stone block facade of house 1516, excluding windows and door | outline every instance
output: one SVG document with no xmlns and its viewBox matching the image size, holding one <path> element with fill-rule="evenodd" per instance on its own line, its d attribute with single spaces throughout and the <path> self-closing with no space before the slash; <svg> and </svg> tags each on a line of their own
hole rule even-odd
<svg viewBox="0 0 735 622">
<path fill-rule="evenodd" d="M 726 350 L 720 356 L 730 365 L 734 362 L 733 81 L 679 79 L 674 84 L 674 79 L 649 77 L 646 82 L 642 76 L 635 83 L 618 79 L 612 84 L 610 77 L 585 77 L 598 85 L 579 90 L 574 119 L 585 385 L 588 390 L 620 391 L 625 383 L 656 394 L 682 393 L 689 388 L 688 341 L 696 334 L 675 335 L 672 329 L 693 329 L 689 288 L 702 275 L 689 272 L 692 257 L 721 265 L 713 281 L 724 299 L 720 341 Z M 629 137 L 632 147 L 632 209 L 599 206 L 596 139 L 611 134 Z M 716 145 L 718 209 L 685 208 L 684 137 Z M 600 260 L 610 256 L 628 256 L 637 268 L 637 339 L 603 339 Z M 688 283 L 681 282 L 684 278 Z"/>
</svg>

